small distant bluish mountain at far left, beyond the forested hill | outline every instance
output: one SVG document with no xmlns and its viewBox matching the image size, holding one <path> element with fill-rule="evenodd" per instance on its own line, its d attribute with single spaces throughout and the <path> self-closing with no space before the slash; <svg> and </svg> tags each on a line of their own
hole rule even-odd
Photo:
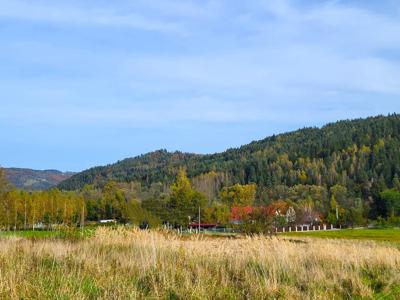
<svg viewBox="0 0 400 300">
<path fill-rule="evenodd" d="M 54 187 L 75 174 L 72 172 L 63 173 L 57 170 L 38 171 L 19 168 L 5 168 L 4 171 L 11 184 L 27 191 L 45 190 Z"/>
</svg>

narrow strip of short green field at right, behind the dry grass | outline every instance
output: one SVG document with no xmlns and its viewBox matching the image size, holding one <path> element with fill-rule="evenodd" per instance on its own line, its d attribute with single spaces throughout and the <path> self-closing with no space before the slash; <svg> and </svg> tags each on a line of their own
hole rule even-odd
<svg viewBox="0 0 400 300">
<path fill-rule="evenodd" d="M 290 232 L 284 235 L 330 239 L 373 240 L 400 244 L 400 229 L 343 229 L 332 231 Z"/>
</svg>

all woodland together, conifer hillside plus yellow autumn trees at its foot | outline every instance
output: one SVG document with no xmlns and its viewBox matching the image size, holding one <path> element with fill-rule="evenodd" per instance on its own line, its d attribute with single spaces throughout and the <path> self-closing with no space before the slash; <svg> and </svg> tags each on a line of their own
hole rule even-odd
<svg viewBox="0 0 400 300">
<path fill-rule="evenodd" d="M 400 116 L 308 128 L 214 155 L 158 151 L 24 192 L 0 173 L 0 228 L 115 220 L 144 227 L 400 223 Z M 90 183 L 90 184 L 89 184 Z M 389 225 L 390 225 L 389 224 Z"/>
</svg>

